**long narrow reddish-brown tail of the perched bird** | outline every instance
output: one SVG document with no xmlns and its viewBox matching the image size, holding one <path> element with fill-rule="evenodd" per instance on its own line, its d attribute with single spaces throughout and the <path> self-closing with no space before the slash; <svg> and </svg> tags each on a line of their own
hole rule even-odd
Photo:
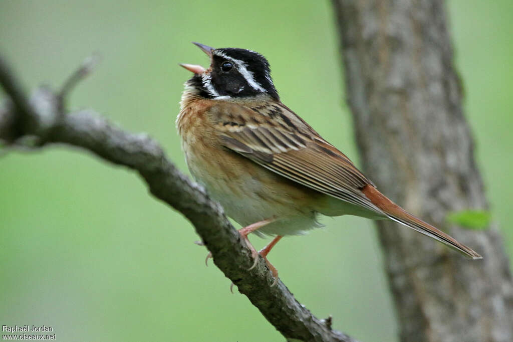
<svg viewBox="0 0 513 342">
<path fill-rule="evenodd" d="M 388 218 L 390 218 L 391 220 L 402 223 L 410 227 L 411 229 L 416 230 L 419 233 L 422 233 L 435 240 L 438 240 L 446 244 L 450 248 L 464 254 L 467 257 L 470 257 L 472 259 L 482 259 L 481 255 L 479 255 L 472 249 L 468 248 L 464 244 L 459 243 L 458 241 L 456 241 L 456 239 L 450 237 L 441 230 L 406 212 L 399 205 L 390 201 L 385 195 L 380 193 L 378 189 L 376 189 L 372 185 L 367 184 L 361 190 L 365 194 L 365 196 L 372 202 L 372 204 L 380 208 L 385 213 L 385 215 L 388 216 Z"/>
</svg>

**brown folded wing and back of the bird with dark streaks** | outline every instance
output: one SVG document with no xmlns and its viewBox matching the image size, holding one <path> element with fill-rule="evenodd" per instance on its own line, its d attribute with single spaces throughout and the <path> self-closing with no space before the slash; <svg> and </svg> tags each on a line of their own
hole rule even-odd
<svg viewBox="0 0 513 342">
<path fill-rule="evenodd" d="M 238 116 L 220 116 L 226 148 L 321 193 L 383 213 L 361 192 L 370 180 L 290 109 L 277 103 L 237 106 Z"/>
</svg>

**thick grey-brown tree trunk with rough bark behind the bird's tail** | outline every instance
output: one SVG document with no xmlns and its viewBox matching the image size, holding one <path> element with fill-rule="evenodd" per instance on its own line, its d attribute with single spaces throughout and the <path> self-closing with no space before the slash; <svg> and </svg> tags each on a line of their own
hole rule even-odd
<svg viewBox="0 0 513 342">
<path fill-rule="evenodd" d="M 513 341 L 513 286 L 497 227 L 446 214 L 487 208 L 441 0 L 333 0 L 363 167 L 380 191 L 483 255 L 472 261 L 379 222 L 402 341 Z M 476 47 L 478 48 L 478 46 Z"/>
</svg>

